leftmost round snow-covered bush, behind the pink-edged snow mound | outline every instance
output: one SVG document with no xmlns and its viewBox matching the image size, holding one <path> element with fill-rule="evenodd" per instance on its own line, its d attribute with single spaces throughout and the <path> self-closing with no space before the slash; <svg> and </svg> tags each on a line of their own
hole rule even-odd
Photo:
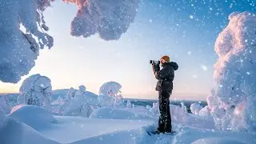
<svg viewBox="0 0 256 144">
<path fill-rule="evenodd" d="M 51 90 L 50 78 L 40 74 L 31 75 L 22 82 L 18 103 L 43 106 L 50 110 Z"/>
</svg>

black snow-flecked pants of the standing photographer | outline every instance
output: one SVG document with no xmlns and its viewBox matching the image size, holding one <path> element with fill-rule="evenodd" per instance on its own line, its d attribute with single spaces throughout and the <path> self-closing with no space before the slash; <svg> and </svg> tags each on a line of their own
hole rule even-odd
<svg viewBox="0 0 256 144">
<path fill-rule="evenodd" d="M 170 118 L 170 93 L 166 91 L 159 91 L 158 102 L 160 116 L 158 120 L 158 131 L 160 133 L 170 133 L 172 130 L 171 127 L 171 118 Z"/>
</svg>

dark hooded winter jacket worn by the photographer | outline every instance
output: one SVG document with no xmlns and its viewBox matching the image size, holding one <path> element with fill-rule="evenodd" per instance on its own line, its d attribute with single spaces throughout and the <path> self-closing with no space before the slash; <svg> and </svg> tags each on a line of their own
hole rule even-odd
<svg viewBox="0 0 256 144">
<path fill-rule="evenodd" d="M 153 72 L 155 78 L 158 79 L 156 90 L 172 92 L 174 81 L 174 70 L 178 70 L 178 64 L 176 62 L 166 62 L 162 65 L 160 70 L 159 65 L 153 65 Z"/>
</svg>

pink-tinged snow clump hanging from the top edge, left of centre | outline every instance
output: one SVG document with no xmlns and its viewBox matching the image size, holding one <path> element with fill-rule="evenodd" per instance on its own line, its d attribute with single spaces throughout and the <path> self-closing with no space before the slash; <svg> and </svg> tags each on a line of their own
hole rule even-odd
<svg viewBox="0 0 256 144">
<path fill-rule="evenodd" d="M 138 0 L 64 0 L 78 5 L 71 22 L 71 34 L 90 37 L 96 33 L 105 40 L 117 40 L 126 32 L 138 10 Z"/>
</svg>

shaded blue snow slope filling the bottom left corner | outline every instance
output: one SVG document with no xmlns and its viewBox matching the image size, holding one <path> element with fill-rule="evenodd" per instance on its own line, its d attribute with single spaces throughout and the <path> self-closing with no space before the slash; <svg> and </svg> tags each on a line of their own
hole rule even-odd
<svg viewBox="0 0 256 144">
<path fill-rule="evenodd" d="M 13 118 L 6 118 L 4 126 L 0 129 L 0 143 L 5 144 L 58 144 L 30 126 L 17 122 Z"/>
</svg>

